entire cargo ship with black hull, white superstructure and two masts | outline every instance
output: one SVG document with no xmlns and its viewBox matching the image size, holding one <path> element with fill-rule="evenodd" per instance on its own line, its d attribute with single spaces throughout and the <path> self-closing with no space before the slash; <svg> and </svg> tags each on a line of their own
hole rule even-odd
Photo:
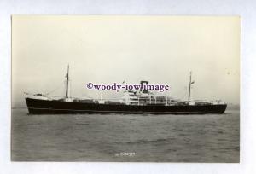
<svg viewBox="0 0 256 174">
<path fill-rule="evenodd" d="M 182 101 L 170 96 L 154 94 L 150 90 L 124 90 L 118 101 L 82 99 L 69 96 L 69 66 L 66 74 L 66 95 L 62 97 L 26 93 L 29 114 L 75 114 L 75 113 L 150 113 L 150 114 L 206 114 L 224 113 L 227 104 L 217 101 L 190 100 L 191 81 L 189 76 L 189 97 Z M 148 81 L 141 81 L 141 85 Z"/>
</svg>

